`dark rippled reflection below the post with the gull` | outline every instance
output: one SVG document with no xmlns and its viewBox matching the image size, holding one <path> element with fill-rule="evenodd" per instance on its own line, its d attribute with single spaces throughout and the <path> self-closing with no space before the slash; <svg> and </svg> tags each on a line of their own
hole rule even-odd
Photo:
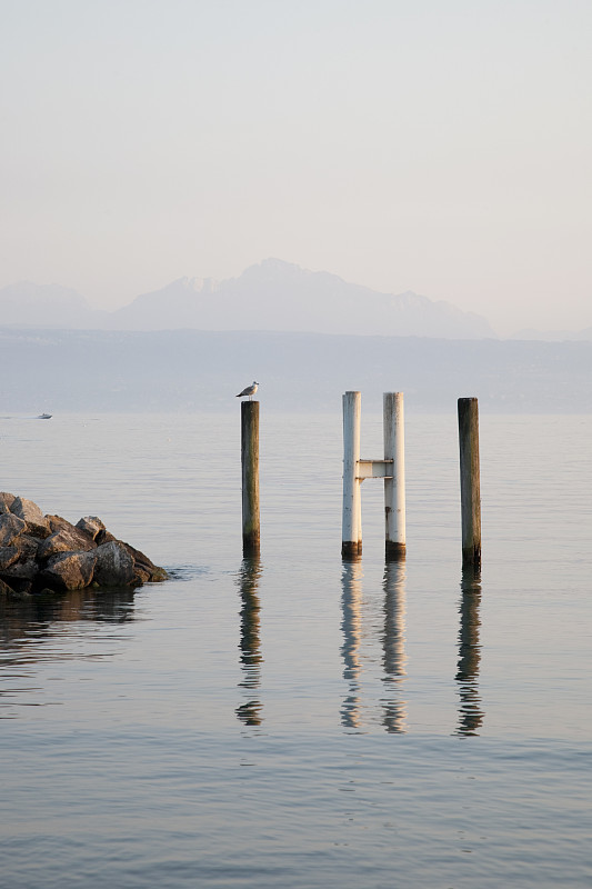
<svg viewBox="0 0 592 889">
<path fill-rule="evenodd" d="M 259 603 L 259 580 L 262 575 L 262 566 L 259 557 L 244 558 L 238 576 L 238 587 L 241 595 L 241 637 L 240 637 L 240 662 L 242 669 L 242 681 L 239 688 L 244 689 L 247 700 L 237 708 L 237 716 L 245 726 L 260 726 L 263 718 L 261 715 L 262 703 L 254 693 L 261 685 L 261 630 Z"/>
</svg>

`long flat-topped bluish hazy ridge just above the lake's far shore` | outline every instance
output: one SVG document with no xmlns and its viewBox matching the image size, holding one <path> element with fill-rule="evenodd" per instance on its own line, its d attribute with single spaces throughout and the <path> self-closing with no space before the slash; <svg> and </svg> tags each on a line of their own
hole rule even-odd
<svg viewBox="0 0 592 889">
<path fill-rule="evenodd" d="M 409 410 L 592 412 L 592 343 L 322 333 L 77 331 L 0 328 L 0 414 L 238 410 L 260 382 L 271 410 L 364 409 L 403 391 Z"/>
</svg>

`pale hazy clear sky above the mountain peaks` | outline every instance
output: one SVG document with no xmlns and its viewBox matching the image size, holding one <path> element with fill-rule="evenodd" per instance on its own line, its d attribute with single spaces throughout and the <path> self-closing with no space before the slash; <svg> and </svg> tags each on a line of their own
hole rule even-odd
<svg viewBox="0 0 592 889">
<path fill-rule="evenodd" d="M 590 0 L 0 0 L 0 287 L 268 257 L 592 324 Z"/>
</svg>

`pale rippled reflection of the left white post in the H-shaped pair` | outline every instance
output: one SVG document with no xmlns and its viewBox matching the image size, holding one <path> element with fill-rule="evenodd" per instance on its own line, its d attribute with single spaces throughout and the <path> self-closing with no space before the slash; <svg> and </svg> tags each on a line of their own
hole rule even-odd
<svg viewBox="0 0 592 889">
<path fill-rule="evenodd" d="M 341 725 L 344 728 L 359 728 L 360 718 L 360 640 L 362 637 L 362 563 L 361 560 L 343 562 L 342 619 L 343 679 L 349 686 L 349 693 L 341 708 Z"/>
</svg>

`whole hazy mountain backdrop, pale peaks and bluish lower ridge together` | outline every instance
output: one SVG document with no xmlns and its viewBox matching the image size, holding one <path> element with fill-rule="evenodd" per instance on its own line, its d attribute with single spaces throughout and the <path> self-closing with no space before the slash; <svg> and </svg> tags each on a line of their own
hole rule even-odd
<svg viewBox="0 0 592 889">
<path fill-rule="evenodd" d="M 220 283 L 181 278 L 113 312 L 13 284 L 0 290 L 0 412 L 237 410 L 251 380 L 280 411 L 338 412 L 360 389 L 372 410 L 403 391 L 411 410 L 478 396 L 489 412 L 592 412 L 592 342 L 534 336 L 500 340 L 446 302 L 279 260 Z"/>
</svg>

